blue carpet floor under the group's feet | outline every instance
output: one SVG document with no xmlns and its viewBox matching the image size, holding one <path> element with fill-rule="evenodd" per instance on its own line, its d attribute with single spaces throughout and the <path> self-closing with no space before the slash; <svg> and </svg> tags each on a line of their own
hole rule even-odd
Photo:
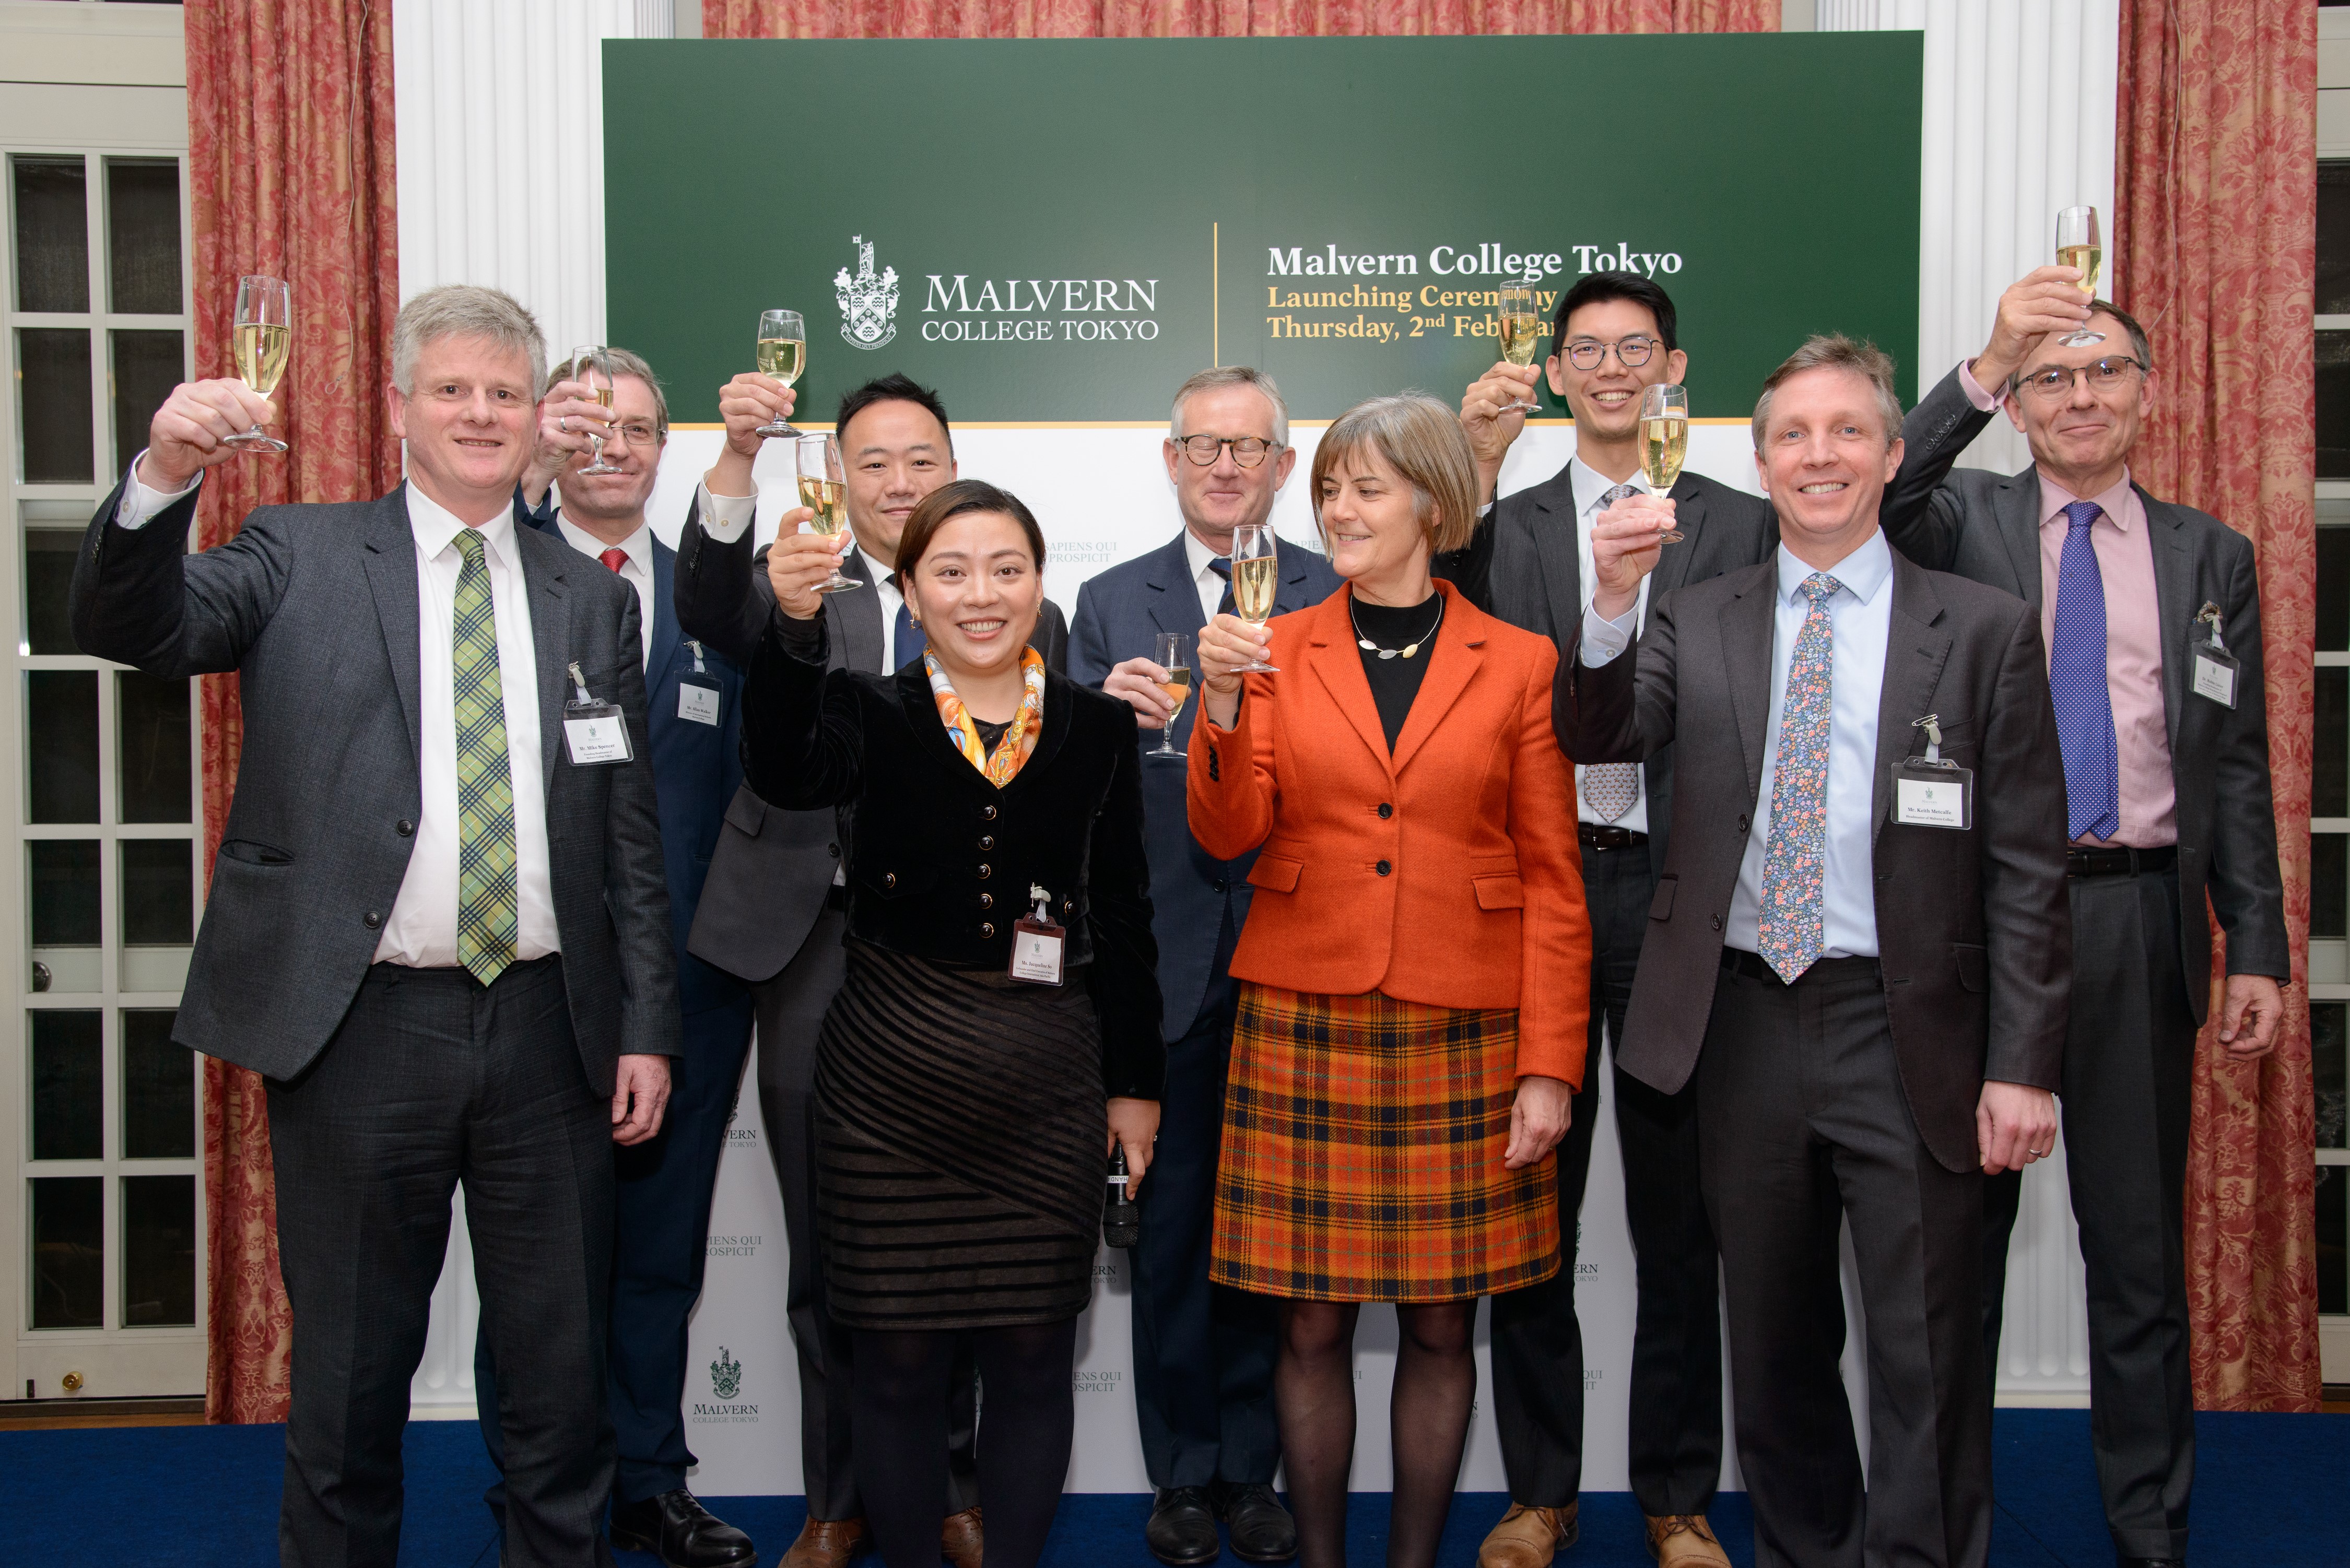
<svg viewBox="0 0 2350 1568">
<path fill-rule="evenodd" d="M 176 1563 L 266 1568 L 277 1561 L 280 1427 L 132 1427 L 0 1432 L 0 1561 Z M 2195 1554 L 2202 1568 L 2350 1568 L 2350 1415 L 2197 1418 Z M 482 1486 L 489 1465 L 472 1422 L 409 1427 L 409 1512 L 400 1561 L 414 1568 L 494 1568 Z M 1998 1413 L 2000 1512 L 1995 1568 L 2110 1568 L 2096 1502 L 2087 1410 Z M 797 1497 L 710 1497 L 750 1530 L 773 1566 L 799 1533 Z M 1504 1500 L 1462 1493 L 1445 1533 L 1445 1568 L 1476 1563 Z M 1147 1497 L 1067 1497 L 1048 1568 L 1152 1568 L 1142 1549 Z M 1744 1495 L 1713 1523 L 1732 1561 L 1753 1561 Z M 1358 1495 L 1347 1561 L 1386 1561 L 1386 1497 Z M 872 1559 L 865 1559 L 867 1563 Z M 1234 1559 L 1224 1559 L 1231 1563 Z M 1650 1556 L 1629 1493 L 1584 1495 L 1584 1540 L 1560 1568 L 1633 1568 Z M 658 1568 L 620 1554 L 623 1568 Z"/>
</svg>

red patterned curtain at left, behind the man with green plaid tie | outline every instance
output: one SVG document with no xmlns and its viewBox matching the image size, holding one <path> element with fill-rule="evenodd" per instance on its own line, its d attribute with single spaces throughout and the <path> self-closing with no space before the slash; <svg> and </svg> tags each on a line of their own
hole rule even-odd
<svg viewBox="0 0 2350 1568">
<path fill-rule="evenodd" d="M 214 468 L 197 543 L 230 538 L 256 505 L 383 494 L 400 482 L 383 409 L 400 308 L 390 0 L 190 0 L 188 174 L 197 376 L 228 374 L 237 277 L 294 287 L 294 357 L 277 388 L 291 451 Z M 204 677 L 200 701 L 209 877 L 244 745 L 237 677 Z M 291 1312 L 268 1103 L 256 1074 L 209 1056 L 204 1213 L 204 1415 L 284 1420 Z"/>
</svg>

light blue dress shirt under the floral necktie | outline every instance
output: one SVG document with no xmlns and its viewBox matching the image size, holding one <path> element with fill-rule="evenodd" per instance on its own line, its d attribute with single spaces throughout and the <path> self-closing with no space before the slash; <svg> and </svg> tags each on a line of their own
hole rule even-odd
<svg viewBox="0 0 2350 1568">
<path fill-rule="evenodd" d="M 1739 886 L 1730 896 L 1730 947 L 1755 952 L 1762 910 L 1762 853 L 1770 846 L 1770 797 L 1779 766 L 1779 710 L 1786 703 L 1786 670 L 1795 663 L 1795 637 L 1812 602 L 1805 578 L 1819 567 L 1788 555 L 1779 545 L 1777 588 L 1770 639 L 1770 729 L 1762 736 L 1762 797 L 1755 802 L 1746 856 L 1739 860 Z M 1878 780 L 1878 701 L 1885 693 L 1885 646 L 1894 621 L 1894 552 L 1875 531 L 1852 555 L 1826 567 L 1840 583 L 1828 599 L 1833 654 L 1833 712 L 1828 717 L 1828 846 L 1821 886 L 1824 957 L 1878 957 L 1875 896 L 1875 780 Z M 1603 665 L 1622 654 L 1638 625 L 1638 607 L 1617 621 L 1584 611 L 1584 663 Z"/>
</svg>

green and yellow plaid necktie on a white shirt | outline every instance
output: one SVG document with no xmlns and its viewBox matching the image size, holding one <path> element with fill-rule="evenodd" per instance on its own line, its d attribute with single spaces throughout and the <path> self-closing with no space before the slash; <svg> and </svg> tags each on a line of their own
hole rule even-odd
<svg viewBox="0 0 2350 1568">
<path fill-rule="evenodd" d="M 489 985 L 515 961 L 515 773 L 505 759 L 498 611 L 479 529 L 456 531 L 456 961 Z"/>
</svg>

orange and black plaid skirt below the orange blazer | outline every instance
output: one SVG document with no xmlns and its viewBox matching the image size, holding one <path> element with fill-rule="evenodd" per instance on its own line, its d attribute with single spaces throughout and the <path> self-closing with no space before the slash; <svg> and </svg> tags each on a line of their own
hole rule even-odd
<svg viewBox="0 0 2350 1568">
<path fill-rule="evenodd" d="M 1504 1171 L 1518 1013 L 1243 983 L 1210 1276 L 1441 1302 L 1558 1272 L 1556 1154 Z"/>
</svg>

